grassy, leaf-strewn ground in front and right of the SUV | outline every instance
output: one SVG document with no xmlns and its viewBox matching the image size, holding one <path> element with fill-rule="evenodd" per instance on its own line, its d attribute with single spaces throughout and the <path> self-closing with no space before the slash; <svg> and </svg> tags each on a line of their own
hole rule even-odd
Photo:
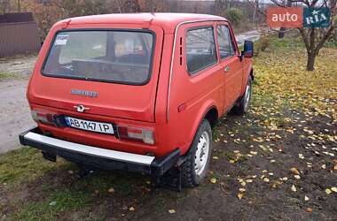
<svg viewBox="0 0 337 221">
<path fill-rule="evenodd" d="M 221 119 L 201 187 L 176 193 L 122 171 L 78 179 L 76 165 L 23 148 L 0 156 L 0 220 L 336 218 L 337 48 L 306 72 L 305 50 L 286 41 L 254 58 L 251 109 Z"/>
</svg>

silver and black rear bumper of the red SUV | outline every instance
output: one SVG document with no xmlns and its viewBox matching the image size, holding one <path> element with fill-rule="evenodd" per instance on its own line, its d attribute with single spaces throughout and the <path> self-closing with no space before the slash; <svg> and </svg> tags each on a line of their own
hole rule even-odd
<svg viewBox="0 0 337 221">
<path fill-rule="evenodd" d="M 38 127 L 21 133 L 20 143 L 41 149 L 47 159 L 61 156 L 68 161 L 87 164 L 94 167 L 114 170 L 142 171 L 155 176 L 161 176 L 176 164 L 180 150 L 176 149 L 167 156 L 155 157 L 132 154 L 112 149 L 101 149 L 80 143 L 63 141 L 44 135 Z"/>
</svg>

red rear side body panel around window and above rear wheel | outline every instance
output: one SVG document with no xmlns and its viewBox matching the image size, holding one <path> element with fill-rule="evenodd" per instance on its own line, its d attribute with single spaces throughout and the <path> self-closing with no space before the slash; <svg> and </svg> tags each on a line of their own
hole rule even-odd
<svg viewBox="0 0 337 221">
<path fill-rule="evenodd" d="M 182 154 L 190 148 L 200 121 L 210 107 L 216 107 L 219 115 L 223 113 L 223 70 L 219 61 L 193 75 L 187 71 L 186 31 L 192 27 L 205 26 L 213 27 L 214 22 L 185 24 L 179 27 L 176 36 L 169 99 L 169 123 L 165 134 L 166 139 L 176 140 L 174 145 L 181 149 Z"/>
</svg>

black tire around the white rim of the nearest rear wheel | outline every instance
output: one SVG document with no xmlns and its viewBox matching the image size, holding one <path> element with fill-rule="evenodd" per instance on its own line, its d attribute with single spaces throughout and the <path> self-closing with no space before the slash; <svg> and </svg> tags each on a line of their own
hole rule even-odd
<svg viewBox="0 0 337 221">
<path fill-rule="evenodd" d="M 200 174 L 195 171 L 196 168 L 196 153 L 198 149 L 198 143 L 200 142 L 201 135 L 206 132 L 208 133 L 209 148 L 206 165 Z M 208 166 L 210 161 L 210 156 L 212 153 L 212 130 L 207 119 L 202 120 L 200 126 L 198 127 L 197 133 L 195 133 L 191 148 L 187 152 L 186 160 L 182 165 L 182 184 L 183 187 L 197 187 L 202 183 L 207 175 Z"/>
</svg>

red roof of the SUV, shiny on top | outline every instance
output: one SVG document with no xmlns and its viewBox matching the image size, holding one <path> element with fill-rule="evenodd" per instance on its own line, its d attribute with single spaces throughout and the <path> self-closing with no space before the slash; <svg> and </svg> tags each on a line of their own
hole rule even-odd
<svg viewBox="0 0 337 221">
<path fill-rule="evenodd" d="M 174 32 L 176 26 L 182 22 L 196 20 L 224 20 L 223 17 L 208 14 L 195 13 L 120 13 L 90 15 L 65 19 L 60 22 L 67 22 L 69 25 L 79 24 L 147 24 L 163 27 L 166 32 Z"/>
</svg>

